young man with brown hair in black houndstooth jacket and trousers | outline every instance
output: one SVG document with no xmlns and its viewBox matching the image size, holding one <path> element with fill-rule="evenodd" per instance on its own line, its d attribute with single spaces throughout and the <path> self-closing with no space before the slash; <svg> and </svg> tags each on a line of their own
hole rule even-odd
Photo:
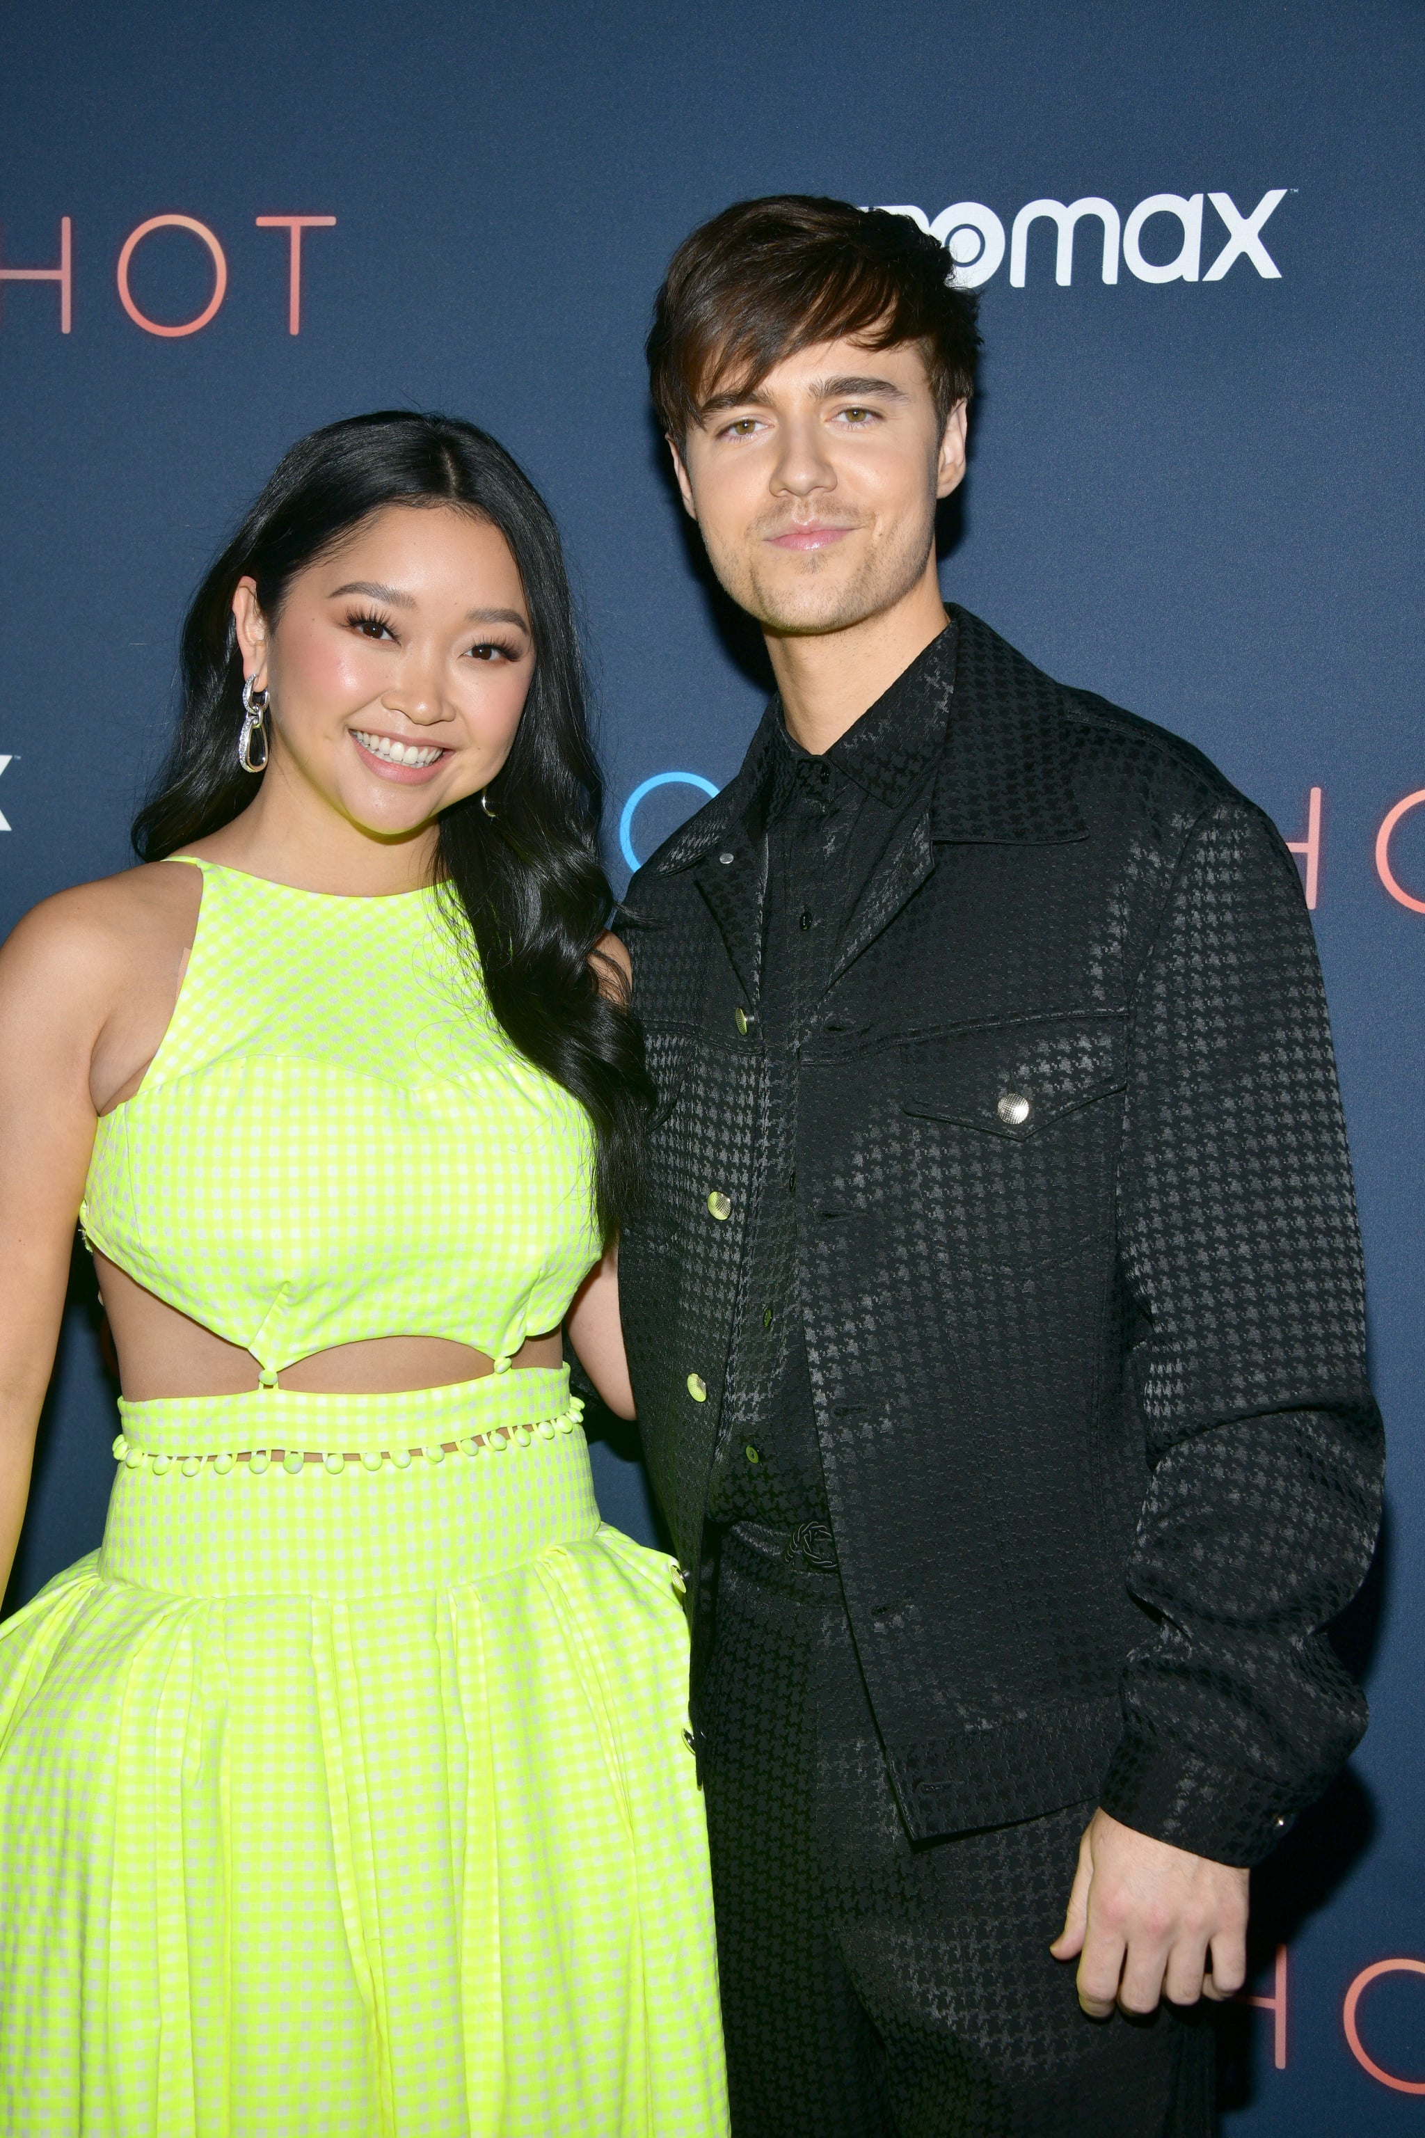
<svg viewBox="0 0 1425 2138">
<path fill-rule="evenodd" d="M 946 609 L 974 299 L 726 210 L 649 363 L 776 673 L 635 877 L 622 1242 L 737 2138 L 1199 2138 L 1248 1869 L 1365 1725 L 1357 1225 L 1295 862 Z"/>
</svg>

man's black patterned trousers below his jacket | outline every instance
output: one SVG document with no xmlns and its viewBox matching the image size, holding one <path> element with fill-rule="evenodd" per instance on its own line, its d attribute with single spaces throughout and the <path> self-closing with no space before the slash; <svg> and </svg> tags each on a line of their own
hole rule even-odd
<svg viewBox="0 0 1425 2138">
<path fill-rule="evenodd" d="M 735 2138 L 1209 2138 L 1209 2012 L 1049 1956 L 1092 1804 L 912 1845 L 814 1559 L 724 1533 L 699 1700 Z"/>
</svg>

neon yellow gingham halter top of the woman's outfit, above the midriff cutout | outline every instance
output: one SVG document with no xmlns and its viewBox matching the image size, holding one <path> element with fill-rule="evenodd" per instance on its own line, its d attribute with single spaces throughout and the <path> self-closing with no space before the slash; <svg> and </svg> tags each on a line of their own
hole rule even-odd
<svg viewBox="0 0 1425 2138">
<path fill-rule="evenodd" d="M 500 1368 L 598 1259 L 588 1114 L 504 1037 L 449 892 L 192 866 L 188 971 L 139 1093 L 98 1122 L 85 1240 L 252 1351 L 263 1385 L 367 1336 Z"/>
</svg>

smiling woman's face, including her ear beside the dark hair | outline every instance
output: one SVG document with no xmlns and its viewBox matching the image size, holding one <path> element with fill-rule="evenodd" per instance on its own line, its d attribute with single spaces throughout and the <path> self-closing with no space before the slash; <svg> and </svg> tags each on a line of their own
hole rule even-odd
<svg viewBox="0 0 1425 2138">
<path fill-rule="evenodd" d="M 534 637 L 508 543 L 451 507 L 389 505 L 297 573 L 276 624 L 241 579 L 244 673 L 271 763 L 376 838 L 410 838 L 511 753 Z"/>
</svg>

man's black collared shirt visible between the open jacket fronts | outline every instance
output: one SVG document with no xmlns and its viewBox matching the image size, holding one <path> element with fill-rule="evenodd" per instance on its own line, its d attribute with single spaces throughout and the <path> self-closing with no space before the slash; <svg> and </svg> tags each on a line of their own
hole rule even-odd
<svg viewBox="0 0 1425 2138">
<path fill-rule="evenodd" d="M 944 746 L 946 669 L 955 669 L 953 624 L 825 757 L 810 757 L 778 721 L 758 1003 L 767 1110 L 707 1501 L 714 1522 L 799 1529 L 827 1520 L 797 1251 L 801 1043 L 823 1013 L 861 894 L 906 817 L 925 806 Z"/>
</svg>

